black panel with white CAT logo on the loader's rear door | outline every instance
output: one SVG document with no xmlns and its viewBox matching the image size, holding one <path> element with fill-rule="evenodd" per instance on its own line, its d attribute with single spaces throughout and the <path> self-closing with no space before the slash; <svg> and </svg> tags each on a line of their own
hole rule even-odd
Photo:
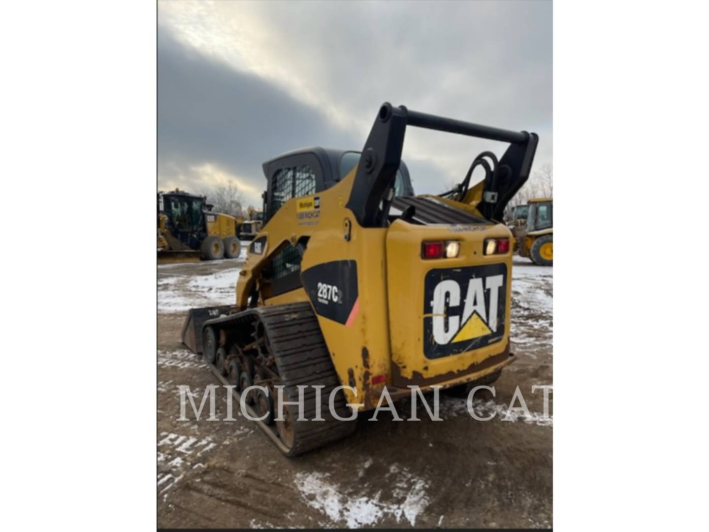
<svg viewBox="0 0 709 532">
<path fill-rule="evenodd" d="M 501 340 L 506 282 L 504 264 L 430 270 L 423 304 L 426 358 L 456 355 Z"/>
</svg>

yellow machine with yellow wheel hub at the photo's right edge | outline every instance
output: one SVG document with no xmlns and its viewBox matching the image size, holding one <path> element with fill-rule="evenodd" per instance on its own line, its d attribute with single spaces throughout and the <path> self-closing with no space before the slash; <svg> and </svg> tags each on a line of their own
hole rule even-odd
<svg viewBox="0 0 709 532">
<path fill-rule="evenodd" d="M 554 262 L 554 199 L 530 199 L 527 223 L 515 231 L 520 256 L 530 257 L 540 266 Z"/>
</svg>

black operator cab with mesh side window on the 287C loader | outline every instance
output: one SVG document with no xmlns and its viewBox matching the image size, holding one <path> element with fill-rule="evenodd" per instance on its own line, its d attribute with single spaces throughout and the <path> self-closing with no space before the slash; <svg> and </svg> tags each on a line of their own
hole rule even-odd
<svg viewBox="0 0 709 532">
<path fill-rule="evenodd" d="M 264 223 L 289 199 L 310 196 L 333 187 L 352 171 L 360 157 L 362 152 L 354 150 L 303 148 L 264 162 L 264 174 L 268 181 L 262 196 Z M 396 172 L 394 193 L 398 197 L 414 195 L 411 177 L 403 160 Z"/>
</svg>

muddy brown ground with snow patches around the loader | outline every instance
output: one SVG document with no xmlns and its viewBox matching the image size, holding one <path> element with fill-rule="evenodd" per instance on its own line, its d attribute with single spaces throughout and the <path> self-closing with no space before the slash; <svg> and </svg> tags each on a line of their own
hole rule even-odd
<svg viewBox="0 0 709 532">
<path fill-rule="evenodd" d="M 179 418 L 178 384 L 219 384 L 179 340 L 186 309 L 229 304 L 241 260 L 158 267 L 158 526 L 210 528 L 549 527 L 552 426 L 532 384 L 552 384 L 552 268 L 515 259 L 512 350 L 517 360 L 481 397 L 444 397 L 442 418 L 366 421 L 347 440 L 285 458 L 255 423 Z M 501 421 L 519 386 L 532 419 Z M 226 417 L 223 389 L 217 416 Z M 552 394 L 553 399 L 553 394 Z M 553 418 L 553 400 L 549 416 Z M 199 406 L 199 404 L 198 404 Z M 519 406 L 517 404 L 517 406 Z M 399 414 L 410 415 L 406 403 Z M 422 415 L 423 414 L 423 417 Z M 391 416 L 388 418 L 391 420 Z"/>
</svg>

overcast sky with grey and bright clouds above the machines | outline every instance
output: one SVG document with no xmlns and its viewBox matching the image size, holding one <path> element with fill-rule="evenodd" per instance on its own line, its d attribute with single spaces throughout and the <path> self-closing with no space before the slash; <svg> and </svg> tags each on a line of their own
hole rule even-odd
<svg viewBox="0 0 709 532">
<path fill-rule="evenodd" d="M 552 2 L 158 2 L 158 187 L 232 179 L 260 206 L 261 164 L 359 150 L 384 101 L 540 135 L 552 162 Z M 408 128 L 415 192 L 444 192 L 506 145 Z"/>
</svg>

